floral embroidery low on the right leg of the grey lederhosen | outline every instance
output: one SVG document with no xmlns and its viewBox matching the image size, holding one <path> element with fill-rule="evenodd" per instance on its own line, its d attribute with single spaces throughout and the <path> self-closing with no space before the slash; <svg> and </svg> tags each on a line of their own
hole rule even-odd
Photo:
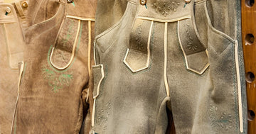
<svg viewBox="0 0 256 134">
<path fill-rule="evenodd" d="M 210 104 L 210 126 L 213 127 L 215 132 L 220 129 L 228 130 L 232 128 L 232 116 L 228 113 L 222 113 L 218 116 L 218 107 Z"/>
</svg>

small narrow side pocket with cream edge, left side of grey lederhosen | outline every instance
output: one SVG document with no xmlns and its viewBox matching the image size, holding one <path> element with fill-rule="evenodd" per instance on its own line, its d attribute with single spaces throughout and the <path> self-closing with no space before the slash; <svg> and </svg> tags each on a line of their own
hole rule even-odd
<svg viewBox="0 0 256 134">
<path fill-rule="evenodd" d="M 93 72 L 93 99 L 96 99 L 97 96 L 100 94 L 100 84 L 102 83 L 102 80 L 104 79 L 104 69 L 103 65 L 95 65 L 92 66 L 92 72 Z"/>
</svg>

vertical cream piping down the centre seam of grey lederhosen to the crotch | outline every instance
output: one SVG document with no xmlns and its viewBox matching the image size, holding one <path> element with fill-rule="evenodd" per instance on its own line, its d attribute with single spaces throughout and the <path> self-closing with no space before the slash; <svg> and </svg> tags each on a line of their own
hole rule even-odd
<svg viewBox="0 0 256 134">
<path fill-rule="evenodd" d="M 168 22 L 164 23 L 164 85 L 166 87 L 166 94 L 170 96 L 170 90 L 167 80 L 167 28 Z"/>
</svg>

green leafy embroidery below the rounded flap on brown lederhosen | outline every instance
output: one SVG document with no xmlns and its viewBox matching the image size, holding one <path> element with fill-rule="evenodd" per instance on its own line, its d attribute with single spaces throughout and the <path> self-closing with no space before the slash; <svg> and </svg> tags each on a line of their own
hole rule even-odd
<svg viewBox="0 0 256 134">
<path fill-rule="evenodd" d="M 63 86 L 69 86 L 73 75 L 63 74 L 60 72 L 53 72 L 53 70 L 44 67 L 42 69 L 43 78 L 48 80 L 48 85 L 51 87 L 53 92 L 58 92 L 58 89 L 63 89 Z"/>
</svg>

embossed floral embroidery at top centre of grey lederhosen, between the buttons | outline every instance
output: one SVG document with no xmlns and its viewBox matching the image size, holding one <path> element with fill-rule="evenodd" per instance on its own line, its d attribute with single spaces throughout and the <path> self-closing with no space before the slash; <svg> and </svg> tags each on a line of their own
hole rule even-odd
<svg viewBox="0 0 256 134">
<path fill-rule="evenodd" d="M 168 16 L 169 13 L 171 11 L 177 11 L 178 6 L 180 6 L 181 4 L 179 2 L 170 2 L 170 3 L 166 3 L 166 2 L 154 2 L 151 6 L 158 11 L 159 13 L 161 13 L 163 16 Z"/>
</svg>

